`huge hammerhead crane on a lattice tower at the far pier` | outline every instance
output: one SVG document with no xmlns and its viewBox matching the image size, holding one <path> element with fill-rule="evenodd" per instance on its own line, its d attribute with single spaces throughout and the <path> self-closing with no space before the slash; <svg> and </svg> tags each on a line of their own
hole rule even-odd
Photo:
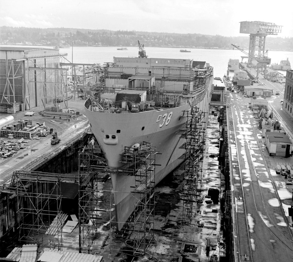
<svg viewBox="0 0 293 262">
<path fill-rule="evenodd" d="M 240 22 L 240 33 L 250 34 L 248 63 L 251 63 L 253 59 L 259 61 L 259 59 L 265 56 L 265 42 L 267 35 L 277 35 L 278 33 L 281 33 L 281 31 L 282 26 L 278 26 L 274 23 L 261 21 Z"/>
</svg>

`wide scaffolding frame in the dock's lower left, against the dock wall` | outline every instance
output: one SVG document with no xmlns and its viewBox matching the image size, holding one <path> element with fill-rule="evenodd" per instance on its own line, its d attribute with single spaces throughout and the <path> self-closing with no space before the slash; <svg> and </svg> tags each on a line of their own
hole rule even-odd
<svg viewBox="0 0 293 262">
<path fill-rule="evenodd" d="M 13 172 L 10 188 L 17 197 L 20 241 L 62 248 L 62 226 L 67 215 L 61 211 L 61 183 L 74 183 L 74 179 L 69 174 Z"/>
</svg>

